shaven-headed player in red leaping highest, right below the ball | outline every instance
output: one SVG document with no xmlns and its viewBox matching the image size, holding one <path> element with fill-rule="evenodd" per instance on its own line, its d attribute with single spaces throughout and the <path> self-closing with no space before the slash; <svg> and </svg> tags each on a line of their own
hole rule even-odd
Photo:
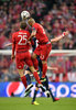
<svg viewBox="0 0 76 110">
<path fill-rule="evenodd" d="M 33 64 L 34 64 L 34 67 L 35 69 L 37 70 L 37 59 L 36 59 L 36 56 L 39 55 L 40 58 L 42 59 L 42 80 L 44 80 L 45 76 L 46 76 L 46 70 L 47 70 L 47 57 L 48 57 L 48 54 L 52 50 L 52 44 L 51 42 L 56 42 L 58 40 L 61 40 L 62 37 L 64 37 L 65 35 L 68 35 L 68 32 L 65 32 L 63 33 L 58 38 L 54 38 L 54 40 L 51 40 L 48 41 L 46 34 L 45 34 L 45 31 L 43 29 L 43 26 L 39 23 L 35 22 L 34 19 L 30 18 L 28 20 L 28 23 L 32 26 L 32 33 L 31 33 L 31 37 L 36 37 L 36 40 L 39 41 L 39 46 L 35 48 L 35 51 L 33 52 L 33 55 L 32 55 L 32 59 L 33 59 Z"/>
</svg>

